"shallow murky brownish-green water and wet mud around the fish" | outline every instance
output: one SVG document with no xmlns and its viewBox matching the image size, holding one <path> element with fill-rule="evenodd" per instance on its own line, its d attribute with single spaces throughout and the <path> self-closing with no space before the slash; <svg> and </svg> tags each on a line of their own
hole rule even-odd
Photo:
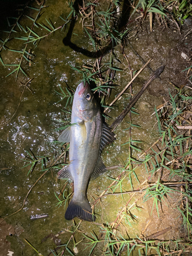
<svg viewBox="0 0 192 256">
<path fill-rule="evenodd" d="M 36 4 L 34 5 L 38 7 Z M 46 5 L 48 7 L 43 9 L 45 12 L 40 16 L 38 22 L 45 23 L 45 19 L 50 18 L 55 27 L 61 26 L 63 22 L 59 16 L 65 17 L 65 15 L 68 15 L 68 4 L 58 0 L 47 1 Z M 35 13 L 34 10 L 29 10 L 28 12 L 30 16 Z M 23 18 L 21 23 L 28 26 L 31 24 L 27 17 Z M 24 61 L 23 65 L 30 78 L 33 78 L 28 84 L 30 90 L 24 87 L 24 84 L 29 79 L 21 72 L 15 80 L 15 74 L 6 77 L 12 71 L 12 68 L 3 68 L 1 66 L 0 174 L 2 186 L 0 188 L 0 216 L 2 219 L 22 207 L 30 187 L 42 174 L 41 164 L 37 164 L 32 174 L 30 173 L 27 176 L 30 166 L 24 167 L 28 163 L 27 160 L 29 160 L 26 158 L 26 151 L 30 152 L 31 150 L 35 156 L 39 157 L 49 156 L 49 160 L 51 160 L 50 155 L 54 155 L 56 145 L 53 142 L 57 140 L 60 134 L 60 131 L 56 129 L 65 125 L 70 118 L 69 114 L 66 115 L 62 111 L 65 108 L 66 100 L 59 101 L 61 97 L 55 91 L 60 92 L 59 86 L 65 91 L 66 83 L 75 90 L 77 84 L 82 80 L 79 73 L 72 70 L 70 65 L 78 67 L 83 63 L 93 65 L 95 62 L 94 58 L 86 57 L 63 45 L 62 39 L 67 35 L 68 28 L 69 26 L 66 30 L 58 30 L 54 35 L 52 34 L 42 39 L 37 44 L 37 47 L 30 45 L 31 52 L 34 55 L 32 57 L 34 63 L 31 63 L 31 67 L 29 67 L 29 63 Z M 41 33 L 45 34 L 45 31 L 39 31 L 39 34 Z M 75 42 L 79 47 L 92 51 L 89 37 L 86 32 L 82 31 L 81 23 L 76 23 L 73 33 L 72 42 Z M 21 35 L 22 33 L 17 33 L 17 37 Z M 6 34 L 2 33 L 1 37 L 6 38 Z M 130 39 L 132 47 L 128 44 L 124 49 L 133 71 L 139 70 L 143 66 L 135 51 L 145 62 L 149 58 L 154 59 L 150 64 L 153 70 L 166 65 L 164 72 L 161 74 L 161 79 L 156 79 L 134 106 L 135 112 L 139 115 L 132 114 L 132 123 L 140 127 L 132 128 L 132 139 L 142 141 L 137 145 L 142 150 L 147 150 L 158 138 L 156 118 L 155 115 L 152 116 L 154 106 L 158 106 L 168 99 L 169 92 L 172 94 L 175 92 L 175 88 L 170 82 L 179 87 L 184 81 L 186 73 L 182 72 L 182 70 L 188 67 L 188 62 L 181 57 L 181 52 L 186 51 L 186 48 L 191 49 L 192 40 L 191 35 L 184 40 L 181 39 L 183 39 L 183 34 L 180 35 L 178 30 L 173 28 L 163 29 L 158 24 L 154 24 L 154 29 L 150 32 L 148 22 L 145 22 L 142 25 L 142 29 L 139 29 L 138 33 Z M 24 48 L 23 41 L 18 39 L 12 39 L 7 46 L 16 50 Z M 125 69 L 127 63 L 125 60 L 122 61 L 121 50 L 118 47 L 115 48 L 115 54 L 122 62 L 119 63 L 114 60 L 116 67 Z M 1 55 L 6 64 L 18 63 L 20 58 L 19 54 L 8 50 L 3 50 Z M 109 61 L 109 59 L 110 54 L 106 54 L 102 61 Z M 138 76 L 133 82 L 133 94 L 136 94 L 141 89 L 150 75 L 151 71 L 145 69 Z M 116 90 L 112 90 L 111 96 L 105 104 L 109 104 L 131 79 L 127 69 L 122 72 L 116 72 L 115 78 L 119 87 L 116 87 Z M 128 102 L 127 94 L 124 94 L 116 102 L 115 107 L 109 113 L 110 119 L 106 120 L 106 122 L 111 124 Z M 14 113 L 15 115 L 13 116 Z M 128 161 L 129 146 L 127 146 L 128 144 L 122 146 L 123 143 L 129 140 L 129 131 L 124 131 L 129 127 L 127 122 L 129 122 L 129 115 L 124 118 L 123 122 L 115 130 L 116 141 L 106 147 L 102 153 L 102 159 L 106 166 L 125 164 Z M 138 156 L 141 155 L 141 153 L 137 154 Z M 135 151 L 133 151 L 133 157 L 137 157 Z M 47 165 L 49 165 L 49 162 Z M 120 173 L 120 169 L 110 170 L 96 180 L 91 181 L 88 188 L 90 203 L 93 203 L 94 199 L 112 183 L 111 177 L 116 178 Z M 138 167 L 136 174 L 141 183 L 148 177 L 144 166 Z M 0 255 L 7 255 L 8 250 L 13 251 L 13 255 L 36 255 L 36 252 L 24 239 L 27 239 L 39 252 L 48 255 L 51 249 L 56 248 L 59 244 L 66 244 L 70 239 L 71 233 L 68 230 L 74 230 L 73 222 L 65 220 L 64 206 L 55 207 L 57 199 L 54 193 L 58 196 L 65 183 L 62 180 L 58 181 L 56 176 L 57 170 L 52 169 L 42 177 L 31 190 L 24 208 L 5 219 L 2 223 L 4 233 L 2 233 L 3 240 L 0 248 L 4 254 L 0 253 Z M 139 183 L 134 176 L 132 176 L 132 182 L 134 189 L 136 189 Z M 72 191 L 70 185 L 67 185 L 66 189 Z M 129 191 L 131 189 L 130 180 L 126 177 L 122 190 Z M 118 188 L 116 192 L 120 192 L 120 189 Z M 111 193 L 111 191 L 109 190 L 108 193 Z M 67 196 L 67 191 L 65 195 Z M 141 194 L 137 194 L 129 205 L 140 196 Z M 117 212 L 124 207 L 129 199 L 129 195 L 124 195 L 123 198 L 121 195 L 103 197 L 102 202 L 95 205 L 96 222 L 99 224 L 114 222 Z M 153 211 L 151 216 L 152 201 L 143 203 L 142 200 L 138 200 L 135 208 L 131 210 L 132 215 L 135 217 L 135 222 L 131 221 L 132 226 L 123 222 L 124 226 L 119 226 L 121 234 L 123 234 L 124 238 L 139 236 L 146 223 L 152 220 L 146 230 L 146 236 L 172 226 L 174 228 L 164 238 L 176 238 L 180 221 L 176 219 L 178 214 L 172 207 L 176 201 L 177 195 L 172 199 L 167 198 L 166 203 L 169 207 L 163 204 L 163 212 L 159 208 L 160 218 L 158 218 L 156 210 Z M 48 214 L 49 217 L 39 220 L 30 219 L 31 216 L 37 214 Z M 76 219 L 75 222 L 78 223 L 79 220 Z M 91 236 L 90 232 L 94 231 L 98 234 L 100 228 L 99 225 L 94 223 L 82 222 L 79 229 L 87 236 Z M 63 233 L 58 237 L 54 237 L 60 231 L 63 231 Z M 77 232 L 75 234 L 76 242 L 81 239 L 83 239 L 82 233 Z M 43 242 L 41 242 L 42 240 Z M 87 241 L 84 240 L 84 242 Z M 78 244 L 79 252 L 84 249 L 84 242 Z M 71 241 L 69 247 L 73 250 L 73 241 Z M 83 253 L 84 255 L 89 255 L 89 252 L 90 249 L 88 248 Z M 66 251 L 65 255 L 70 255 L 70 253 Z"/>
</svg>

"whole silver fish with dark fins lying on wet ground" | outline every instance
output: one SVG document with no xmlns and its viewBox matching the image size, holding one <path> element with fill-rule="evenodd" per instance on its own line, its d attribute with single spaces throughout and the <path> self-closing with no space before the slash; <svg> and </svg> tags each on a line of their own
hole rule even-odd
<svg viewBox="0 0 192 256">
<path fill-rule="evenodd" d="M 96 220 L 87 198 L 87 189 L 91 178 L 105 172 L 101 152 L 114 140 L 114 133 L 102 122 L 89 83 L 81 82 L 74 94 L 71 125 L 58 138 L 59 142 L 70 142 L 70 164 L 58 172 L 59 179 L 71 179 L 74 183 L 74 195 L 65 213 L 66 220 L 75 217 L 85 221 Z"/>
</svg>

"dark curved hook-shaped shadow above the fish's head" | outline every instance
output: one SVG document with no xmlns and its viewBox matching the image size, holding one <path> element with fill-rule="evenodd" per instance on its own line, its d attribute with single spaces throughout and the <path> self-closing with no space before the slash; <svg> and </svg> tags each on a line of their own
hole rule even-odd
<svg viewBox="0 0 192 256">
<path fill-rule="evenodd" d="M 76 11 L 76 13 L 79 13 L 79 7 L 82 6 L 83 1 L 82 0 L 75 0 L 74 2 L 74 9 Z M 123 2 L 123 6 L 122 6 L 122 13 L 119 19 L 119 24 L 118 24 L 118 28 L 116 28 L 118 31 L 121 31 L 125 28 L 128 20 L 129 20 L 129 16 L 130 16 L 130 5 L 129 5 L 129 1 L 128 0 L 124 0 Z M 113 49 L 114 45 L 109 44 L 108 46 L 106 46 L 102 51 L 98 50 L 98 51 L 89 51 L 87 49 L 84 49 L 82 47 L 77 46 L 76 44 L 74 44 L 71 41 L 71 37 L 72 37 L 72 33 L 73 33 L 73 29 L 75 27 L 75 23 L 76 20 L 73 19 L 72 22 L 70 23 L 70 27 L 68 30 L 68 33 L 66 35 L 66 37 L 63 38 L 62 42 L 65 46 L 69 46 L 72 50 L 74 50 L 75 52 L 80 52 L 83 55 L 90 57 L 90 58 L 98 58 L 106 53 L 108 53 L 111 49 Z"/>
</svg>

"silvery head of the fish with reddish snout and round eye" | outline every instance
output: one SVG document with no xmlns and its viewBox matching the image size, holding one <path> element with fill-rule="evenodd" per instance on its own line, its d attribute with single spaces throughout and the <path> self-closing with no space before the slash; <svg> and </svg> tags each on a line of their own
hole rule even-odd
<svg viewBox="0 0 192 256">
<path fill-rule="evenodd" d="M 73 99 L 72 112 L 84 121 L 90 121 L 98 112 L 99 107 L 94 99 L 89 83 L 79 83 Z"/>
</svg>

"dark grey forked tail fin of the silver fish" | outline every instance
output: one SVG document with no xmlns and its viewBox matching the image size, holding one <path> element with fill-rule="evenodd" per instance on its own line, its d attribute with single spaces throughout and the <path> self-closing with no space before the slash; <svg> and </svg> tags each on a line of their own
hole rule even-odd
<svg viewBox="0 0 192 256">
<path fill-rule="evenodd" d="M 92 214 L 91 206 L 85 198 L 83 202 L 78 202 L 72 198 L 65 214 L 66 220 L 72 220 L 75 217 L 79 217 L 85 221 L 95 221 L 96 217 Z"/>
</svg>

